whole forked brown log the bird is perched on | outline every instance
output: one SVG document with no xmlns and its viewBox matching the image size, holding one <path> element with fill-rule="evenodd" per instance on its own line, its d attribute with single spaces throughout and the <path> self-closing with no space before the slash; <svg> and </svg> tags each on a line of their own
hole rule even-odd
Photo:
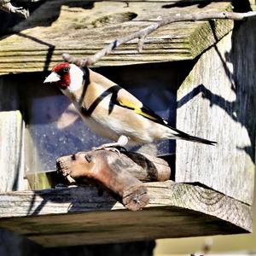
<svg viewBox="0 0 256 256">
<path fill-rule="evenodd" d="M 108 150 L 63 156 L 57 160 L 57 169 L 70 183 L 100 185 L 133 211 L 141 210 L 149 201 L 140 180 L 165 181 L 171 176 L 165 160 L 131 152 L 119 155 Z"/>
</svg>

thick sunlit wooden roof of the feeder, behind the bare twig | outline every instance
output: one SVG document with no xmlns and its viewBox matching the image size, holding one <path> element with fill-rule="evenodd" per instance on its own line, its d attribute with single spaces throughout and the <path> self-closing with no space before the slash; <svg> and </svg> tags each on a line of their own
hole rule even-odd
<svg viewBox="0 0 256 256">
<path fill-rule="evenodd" d="M 230 3 L 209 3 L 204 12 L 225 9 L 230 9 Z M 200 11 L 196 4 L 180 7 L 156 1 L 131 1 L 128 6 L 119 1 L 49 1 L 15 26 L 16 34 L 1 39 L 0 74 L 45 71 L 62 61 L 63 52 L 78 57 L 92 55 L 115 38 L 152 24 L 160 15 Z M 134 40 L 105 56 L 96 66 L 194 59 L 233 27 L 231 20 L 214 24 L 212 27 L 207 21 L 173 23 L 148 36 L 142 53 L 137 53 Z"/>
</svg>

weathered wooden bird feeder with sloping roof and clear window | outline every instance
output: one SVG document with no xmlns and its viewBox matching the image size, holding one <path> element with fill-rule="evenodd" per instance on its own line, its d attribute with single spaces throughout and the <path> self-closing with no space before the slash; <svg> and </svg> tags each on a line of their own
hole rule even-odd
<svg viewBox="0 0 256 256">
<path fill-rule="evenodd" d="M 59 90 L 43 84 L 63 52 L 92 55 L 160 15 L 231 9 L 231 1 L 46 1 L 12 27 L 0 39 L 0 227 L 44 247 L 251 232 L 254 20 L 172 23 L 150 34 L 142 53 L 133 40 L 96 62 L 96 72 L 126 86 L 177 129 L 218 142 L 129 149 L 171 170 L 165 181 L 152 179 L 154 172 L 146 183 L 129 172 L 142 211 L 126 208 L 137 210 L 130 180 L 115 191 L 128 198 L 121 204 L 94 185 L 54 188 L 46 178 L 59 157 L 105 142 L 84 127 Z M 155 164 L 152 158 L 147 161 Z M 148 169 L 137 168 L 147 177 Z"/>
</svg>

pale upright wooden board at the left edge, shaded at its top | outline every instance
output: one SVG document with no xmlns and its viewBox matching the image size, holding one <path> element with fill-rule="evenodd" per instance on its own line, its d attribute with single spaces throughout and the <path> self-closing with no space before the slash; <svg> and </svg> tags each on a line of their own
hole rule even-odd
<svg viewBox="0 0 256 256">
<path fill-rule="evenodd" d="M 15 84 L 0 78 L 0 191 L 24 189 L 23 128 Z"/>
</svg>

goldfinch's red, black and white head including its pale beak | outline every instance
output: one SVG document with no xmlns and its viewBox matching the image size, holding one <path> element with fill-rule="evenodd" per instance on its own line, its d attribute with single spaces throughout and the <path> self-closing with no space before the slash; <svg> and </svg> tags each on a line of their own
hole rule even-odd
<svg viewBox="0 0 256 256">
<path fill-rule="evenodd" d="M 44 83 L 56 83 L 61 90 L 75 91 L 83 85 L 84 72 L 74 64 L 61 62 L 52 68 Z"/>
</svg>

